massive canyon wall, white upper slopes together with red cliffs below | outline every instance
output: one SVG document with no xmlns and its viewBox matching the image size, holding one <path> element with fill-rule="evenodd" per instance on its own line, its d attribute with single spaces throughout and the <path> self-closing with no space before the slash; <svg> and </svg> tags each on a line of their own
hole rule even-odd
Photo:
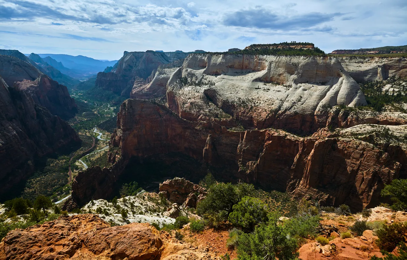
<svg viewBox="0 0 407 260">
<path fill-rule="evenodd" d="M 404 77 L 406 64 L 405 58 L 192 53 L 180 66 L 160 65 L 135 81 L 136 99 L 120 106 L 109 143 L 112 166 L 79 173 L 72 201 L 82 206 L 113 196 L 130 163 L 183 154 L 223 181 L 319 205 L 374 207 L 385 200 L 385 184 L 407 176 L 406 152 L 403 141 L 388 143 L 365 129 L 401 127 L 407 117 L 358 109 L 367 102 L 352 75 L 359 82 Z"/>
</svg>

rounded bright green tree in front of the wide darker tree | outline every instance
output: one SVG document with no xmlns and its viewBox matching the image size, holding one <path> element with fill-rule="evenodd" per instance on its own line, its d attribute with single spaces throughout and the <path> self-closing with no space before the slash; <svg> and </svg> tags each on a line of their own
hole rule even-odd
<svg viewBox="0 0 407 260">
<path fill-rule="evenodd" d="M 235 227 L 252 232 L 256 225 L 267 222 L 267 206 L 258 198 L 245 196 L 233 205 L 228 220 Z"/>
</svg>

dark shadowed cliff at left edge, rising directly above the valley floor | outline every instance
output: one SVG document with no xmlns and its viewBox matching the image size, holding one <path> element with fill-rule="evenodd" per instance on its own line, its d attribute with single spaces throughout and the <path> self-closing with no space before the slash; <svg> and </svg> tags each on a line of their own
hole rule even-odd
<svg viewBox="0 0 407 260">
<path fill-rule="evenodd" d="M 0 200 L 34 170 L 35 159 L 80 144 L 76 132 L 0 77 Z"/>
</svg>

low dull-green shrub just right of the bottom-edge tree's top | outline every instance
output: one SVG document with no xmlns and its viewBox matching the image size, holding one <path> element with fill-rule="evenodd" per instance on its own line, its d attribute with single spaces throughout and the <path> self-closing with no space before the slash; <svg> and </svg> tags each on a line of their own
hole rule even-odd
<svg viewBox="0 0 407 260">
<path fill-rule="evenodd" d="M 321 220 L 319 216 L 298 216 L 287 220 L 284 226 L 293 237 L 315 238 L 318 233 L 319 220 Z"/>
</svg>

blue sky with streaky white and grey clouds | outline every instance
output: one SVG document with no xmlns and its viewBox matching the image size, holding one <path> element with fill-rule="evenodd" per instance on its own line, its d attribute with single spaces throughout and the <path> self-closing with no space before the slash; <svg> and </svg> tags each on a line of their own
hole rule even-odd
<svg viewBox="0 0 407 260">
<path fill-rule="evenodd" d="M 313 42 L 325 52 L 407 44 L 407 0 L 0 0 L 0 49 L 120 59 Z"/>
</svg>

